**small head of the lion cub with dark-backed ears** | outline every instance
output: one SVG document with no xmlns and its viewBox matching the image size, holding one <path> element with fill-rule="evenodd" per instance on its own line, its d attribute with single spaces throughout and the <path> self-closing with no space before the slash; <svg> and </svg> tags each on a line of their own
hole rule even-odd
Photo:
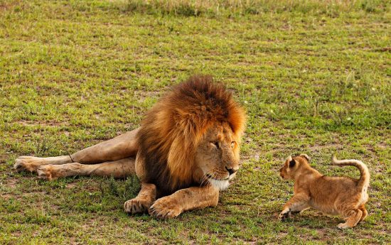
<svg viewBox="0 0 391 245">
<path fill-rule="evenodd" d="M 279 175 L 284 180 L 294 180 L 295 176 L 309 165 L 309 156 L 300 154 L 299 156 L 289 156 L 285 160 L 284 166 L 280 168 Z"/>
</svg>

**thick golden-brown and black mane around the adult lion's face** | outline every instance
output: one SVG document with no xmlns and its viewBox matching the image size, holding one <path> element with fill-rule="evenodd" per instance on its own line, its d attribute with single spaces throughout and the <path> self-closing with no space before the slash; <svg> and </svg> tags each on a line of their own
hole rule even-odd
<svg viewBox="0 0 391 245">
<path fill-rule="evenodd" d="M 147 112 L 137 135 L 145 181 L 167 194 L 200 185 L 193 180 L 195 150 L 210 126 L 220 122 L 240 139 L 245 111 L 223 85 L 198 75 L 173 87 Z"/>
</svg>

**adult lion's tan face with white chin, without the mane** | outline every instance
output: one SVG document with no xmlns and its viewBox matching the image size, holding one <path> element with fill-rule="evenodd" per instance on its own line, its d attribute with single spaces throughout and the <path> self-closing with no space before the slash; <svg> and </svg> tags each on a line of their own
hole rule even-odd
<svg viewBox="0 0 391 245">
<path fill-rule="evenodd" d="M 239 169 L 239 145 L 228 124 L 211 127 L 195 152 L 195 164 L 204 181 L 224 190 Z"/>
</svg>

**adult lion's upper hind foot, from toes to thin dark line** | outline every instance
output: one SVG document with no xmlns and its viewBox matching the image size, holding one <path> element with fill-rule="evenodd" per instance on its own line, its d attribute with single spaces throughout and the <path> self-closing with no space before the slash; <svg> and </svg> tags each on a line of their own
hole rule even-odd
<svg viewBox="0 0 391 245">
<path fill-rule="evenodd" d="M 60 165 L 66 163 L 72 163 L 70 156 L 55 156 L 51 158 L 20 156 L 16 158 L 14 168 L 18 171 L 36 172 L 36 170 L 42 165 Z"/>
</svg>

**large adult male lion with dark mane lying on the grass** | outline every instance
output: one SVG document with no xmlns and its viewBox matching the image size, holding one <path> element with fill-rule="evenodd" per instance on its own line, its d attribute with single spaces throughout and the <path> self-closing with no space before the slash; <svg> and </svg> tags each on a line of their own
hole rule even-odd
<svg viewBox="0 0 391 245">
<path fill-rule="evenodd" d="M 125 211 L 176 217 L 218 204 L 219 190 L 239 168 L 244 126 L 245 112 L 232 94 L 211 77 L 195 76 L 157 102 L 139 129 L 70 156 L 21 156 L 14 167 L 48 180 L 136 173 L 141 190 L 124 203 Z"/>
</svg>

